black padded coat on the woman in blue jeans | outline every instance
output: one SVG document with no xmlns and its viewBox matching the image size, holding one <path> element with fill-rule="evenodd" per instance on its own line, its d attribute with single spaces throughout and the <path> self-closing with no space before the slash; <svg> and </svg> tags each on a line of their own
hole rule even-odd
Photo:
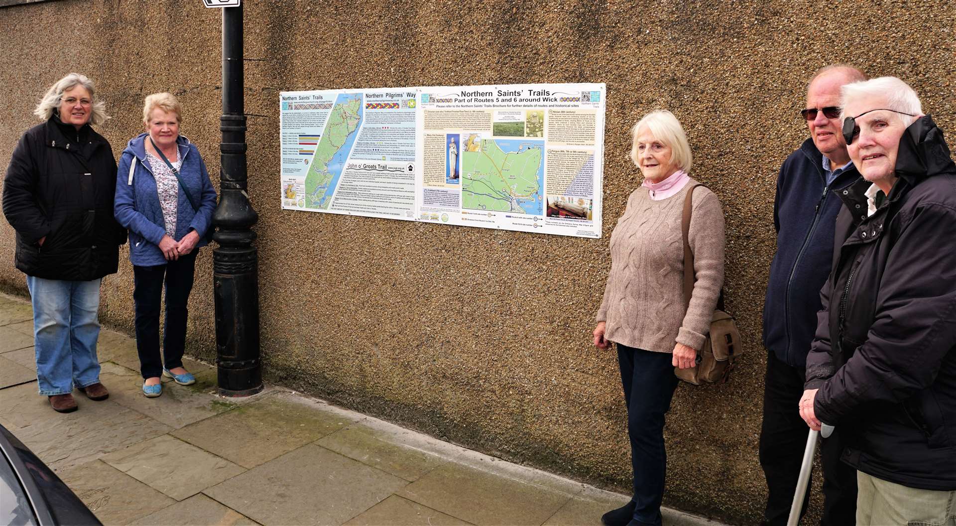
<svg viewBox="0 0 956 526">
<path fill-rule="evenodd" d="M 126 233 L 113 218 L 116 174 L 110 143 L 89 124 L 76 130 L 54 116 L 27 130 L 3 187 L 16 268 L 69 281 L 116 273 Z"/>
</svg>

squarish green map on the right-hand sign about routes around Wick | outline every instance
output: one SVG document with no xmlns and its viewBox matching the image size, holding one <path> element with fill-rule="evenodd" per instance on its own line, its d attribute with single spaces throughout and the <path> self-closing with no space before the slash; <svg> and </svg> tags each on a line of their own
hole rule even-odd
<svg viewBox="0 0 956 526">
<path fill-rule="evenodd" d="M 543 213 L 544 141 L 479 139 L 462 152 L 462 208 Z"/>
</svg>

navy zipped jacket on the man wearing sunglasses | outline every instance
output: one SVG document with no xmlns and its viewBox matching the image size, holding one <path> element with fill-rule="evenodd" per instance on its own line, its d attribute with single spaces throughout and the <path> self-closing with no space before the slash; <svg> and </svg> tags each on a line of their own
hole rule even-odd
<svg viewBox="0 0 956 526">
<path fill-rule="evenodd" d="M 829 186 L 823 154 L 808 139 L 780 167 L 773 201 L 777 250 L 764 299 L 764 346 L 778 359 L 804 368 L 814 340 L 820 289 L 834 258 L 836 213 L 843 205 L 836 189 L 859 179 L 847 167 Z"/>
</svg>

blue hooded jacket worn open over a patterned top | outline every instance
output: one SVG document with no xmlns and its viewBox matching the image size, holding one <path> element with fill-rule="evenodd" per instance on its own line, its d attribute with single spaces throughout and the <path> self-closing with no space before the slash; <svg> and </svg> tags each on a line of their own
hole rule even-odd
<svg viewBox="0 0 956 526">
<path fill-rule="evenodd" d="M 160 206 L 160 194 L 156 189 L 156 179 L 146 161 L 145 139 L 142 133 L 126 144 L 120 155 L 120 167 L 117 169 L 117 190 L 113 213 L 120 225 L 129 229 L 129 260 L 134 265 L 148 267 L 165 265 L 166 259 L 160 250 L 160 240 L 166 233 L 163 208 Z M 199 155 L 199 148 L 183 136 L 177 140 L 180 176 L 183 184 L 194 200 L 199 202 L 199 210 L 193 210 L 189 198 L 179 189 L 179 201 L 176 205 L 176 232 L 173 239 L 180 241 L 190 230 L 199 234 L 196 248 L 204 247 L 206 230 L 212 228 L 212 211 L 216 208 L 216 189 L 209 181 L 206 163 Z M 130 164 L 135 164 L 130 180 Z"/>
</svg>

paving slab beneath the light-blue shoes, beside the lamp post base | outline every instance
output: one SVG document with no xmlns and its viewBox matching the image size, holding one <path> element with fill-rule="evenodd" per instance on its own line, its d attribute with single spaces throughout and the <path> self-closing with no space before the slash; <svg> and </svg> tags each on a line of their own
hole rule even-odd
<svg viewBox="0 0 956 526">
<path fill-rule="evenodd" d="M 163 384 L 162 396 L 146 398 L 139 371 L 113 362 L 102 363 L 99 378 L 110 389 L 110 400 L 176 429 L 239 406 L 227 398 L 177 384 Z"/>
</svg>

